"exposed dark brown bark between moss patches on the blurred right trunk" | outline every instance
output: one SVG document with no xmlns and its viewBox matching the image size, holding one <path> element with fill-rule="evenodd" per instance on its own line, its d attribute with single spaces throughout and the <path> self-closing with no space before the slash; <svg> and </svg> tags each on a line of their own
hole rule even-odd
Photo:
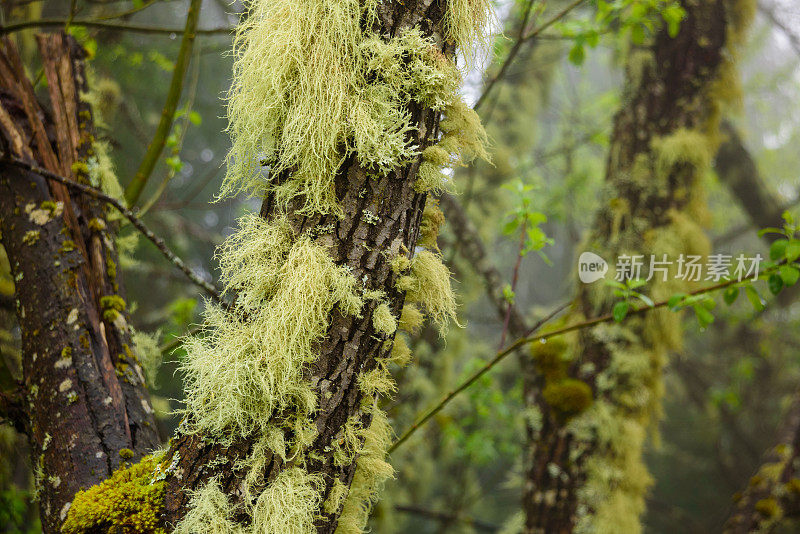
<svg viewBox="0 0 800 534">
<path fill-rule="evenodd" d="M 705 121 L 711 120 L 706 91 L 722 61 L 727 3 L 687 0 L 682 5 L 687 17 L 679 34 L 671 38 L 662 30 L 652 45 L 652 61 L 629 69 L 625 102 L 615 117 L 606 169 L 612 201 L 599 212 L 589 239 L 591 245 L 605 247 L 610 262 L 620 253 L 620 235 L 632 233 L 635 241 L 637 233 L 667 225 L 670 210 L 682 209 L 689 200 L 686 193 L 693 179 L 690 165 L 674 169 L 663 188 L 634 176 L 637 159 L 650 157 L 654 139 L 681 128 L 704 129 Z M 621 218 L 620 202 L 625 206 Z M 634 221 L 638 226 L 632 226 Z M 610 312 L 614 299 L 605 298 L 598 306 L 591 292 L 590 286 L 579 288 L 577 312 L 587 317 Z M 634 333 L 641 337 L 641 328 Z M 597 398 L 603 394 L 598 392 L 597 376 L 608 367 L 611 349 L 593 331 L 581 334 L 579 346 L 581 352 L 568 374 L 588 383 Z M 543 417 L 541 429 L 528 441 L 525 532 L 570 532 L 579 517 L 578 493 L 586 482 L 584 461 L 595 449 L 591 443 L 576 440 L 539 390 L 530 389 L 527 394 L 530 398 L 526 398 L 526 404 L 539 406 Z M 581 513 L 593 514 L 594 510 Z"/>
</svg>

